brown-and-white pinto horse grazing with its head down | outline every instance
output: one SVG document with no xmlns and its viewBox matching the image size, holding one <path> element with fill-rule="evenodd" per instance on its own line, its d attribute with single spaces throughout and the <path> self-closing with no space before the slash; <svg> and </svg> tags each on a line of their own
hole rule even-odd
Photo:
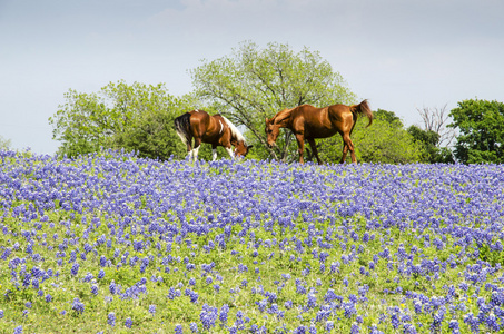
<svg viewBox="0 0 504 334">
<path fill-rule="evenodd" d="M 201 143 L 211 144 L 213 160 L 217 159 L 217 146 L 226 148 L 233 158 L 245 157 L 253 147 L 247 146 L 240 131 L 224 116 L 210 116 L 202 110 L 192 110 L 175 119 L 177 135 L 187 146 L 188 157 L 194 161 L 198 159 L 198 150 Z M 192 138 L 195 146 L 192 147 Z M 233 151 L 231 145 L 235 146 Z"/>
</svg>

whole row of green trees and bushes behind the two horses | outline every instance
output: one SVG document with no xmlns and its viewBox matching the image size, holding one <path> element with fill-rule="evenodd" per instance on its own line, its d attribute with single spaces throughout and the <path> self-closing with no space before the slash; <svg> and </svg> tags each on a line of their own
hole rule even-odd
<svg viewBox="0 0 504 334">
<path fill-rule="evenodd" d="M 189 71 L 194 91 L 176 97 L 162 84 L 110 82 L 98 92 L 70 89 L 66 102 L 49 119 L 53 138 L 61 143 L 58 154 L 69 157 L 123 148 L 142 157 L 184 158 L 186 147 L 175 132 L 174 119 L 192 109 L 223 114 L 237 125 L 254 148 L 255 159 L 297 159 L 293 134 L 283 130 L 277 147 L 270 148 L 264 131 L 265 118 L 281 109 L 304 104 L 324 107 L 354 104 L 357 97 L 342 76 L 317 51 L 294 52 L 289 46 L 270 43 L 265 49 L 244 42 L 230 56 Z M 375 107 L 375 106 L 372 106 Z M 352 139 L 362 163 L 502 163 L 504 104 L 464 100 L 446 108 L 418 110 L 422 126 L 405 127 L 394 111 L 376 109 L 374 121 L 358 121 Z M 320 158 L 338 161 L 340 136 L 318 139 Z M 226 156 L 220 150 L 220 156 Z M 211 158 L 202 145 L 199 157 Z M 305 151 L 305 160 L 313 153 Z"/>
</svg>

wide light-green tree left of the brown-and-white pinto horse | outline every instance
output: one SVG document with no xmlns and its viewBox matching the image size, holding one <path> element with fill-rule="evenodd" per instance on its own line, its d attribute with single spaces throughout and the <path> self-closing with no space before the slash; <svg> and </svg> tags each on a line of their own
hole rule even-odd
<svg viewBox="0 0 504 334">
<path fill-rule="evenodd" d="M 172 120 L 189 109 L 189 101 L 170 96 L 162 84 L 110 82 L 99 92 L 70 89 L 65 98 L 66 104 L 49 118 L 53 138 L 61 141 L 59 154 L 123 147 L 151 158 L 185 155 L 181 143 L 175 140 Z"/>
</svg>

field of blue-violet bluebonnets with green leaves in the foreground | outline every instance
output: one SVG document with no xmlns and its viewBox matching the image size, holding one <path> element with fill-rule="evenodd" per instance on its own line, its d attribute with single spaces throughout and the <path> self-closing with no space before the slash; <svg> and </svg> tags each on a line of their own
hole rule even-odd
<svg viewBox="0 0 504 334">
<path fill-rule="evenodd" d="M 1 333 L 496 333 L 504 167 L 0 151 Z"/>
</svg>

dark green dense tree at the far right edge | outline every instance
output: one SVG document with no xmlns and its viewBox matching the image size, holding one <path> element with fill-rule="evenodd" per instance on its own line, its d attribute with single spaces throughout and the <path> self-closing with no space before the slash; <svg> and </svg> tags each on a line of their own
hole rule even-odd
<svg viewBox="0 0 504 334">
<path fill-rule="evenodd" d="M 458 128 L 455 157 L 464 164 L 504 163 L 504 104 L 471 99 L 452 109 L 451 128 Z"/>
</svg>

